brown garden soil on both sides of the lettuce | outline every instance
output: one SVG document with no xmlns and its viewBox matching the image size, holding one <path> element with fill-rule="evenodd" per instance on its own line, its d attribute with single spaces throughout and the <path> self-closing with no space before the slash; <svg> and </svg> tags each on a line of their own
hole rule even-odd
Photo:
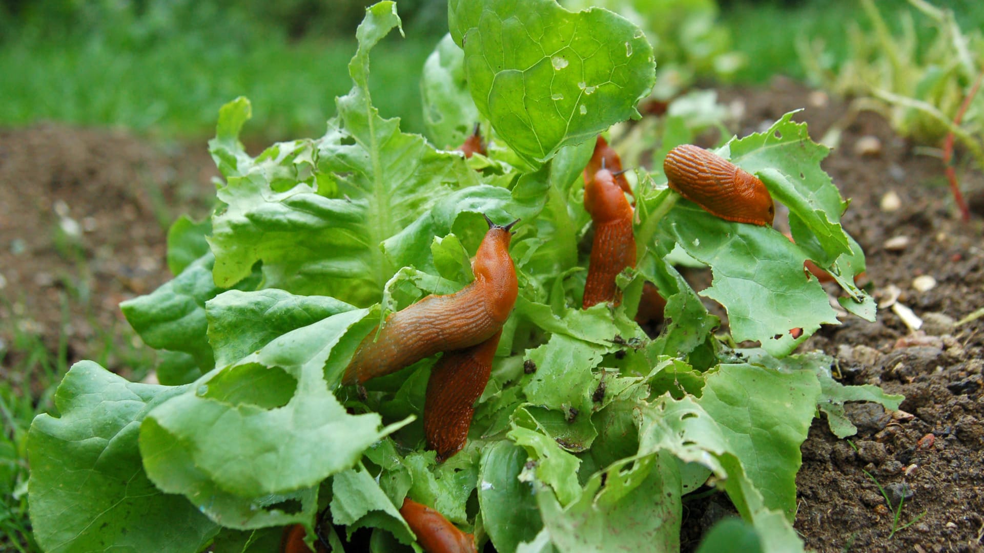
<svg viewBox="0 0 984 553">
<path fill-rule="evenodd" d="M 912 331 L 889 306 L 875 323 L 845 317 L 802 346 L 832 355 L 845 384 L 905 400 L 894 413 L 850 405 L 858 433 L 846 440 L 815 420 L 802 447 L 796 529 L 822 552 L 984 552 L 984 318 L 957 325 L 984 307 L 980 200 L 960 222 L 938 151 L 894 136 L 878 115 L 848 118 L 846 104 L 823 92 L 776 81 L 721 99 L 741 107 L 740 135 L 799 107 L 815 140 L 842 127 L 824 168 L 851 200 L 843 224 L 868 256 L 861 283 L 922 320 Z M 984 191 L 979 171 L 958 173 L 966 191 Z M 142 346 L 124 332 L 118 303 L 169 278 L 165 221 L 208 215 L 215 175 L 204 142 L 161 148 L 51 125 L 0 131 L 0 378 L 32 386 L 9 369 L 30 354 L 25 337 L 69 363 L 96 358 L 129 374 L 118 352 Z M 112 345 L 114 336 L 126 343 Z M 733 512 L 720 495 L 686 502 L 684 549 Z"/>
</svg>

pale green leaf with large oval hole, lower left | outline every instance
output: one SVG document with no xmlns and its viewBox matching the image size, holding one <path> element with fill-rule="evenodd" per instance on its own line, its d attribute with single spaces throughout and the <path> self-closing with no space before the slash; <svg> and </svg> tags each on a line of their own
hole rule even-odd
<svg viewBox="0 0 984 553">
<path fill-rule="evenodd" d="M 351 467 L 400 426 L 380 429 L 376 413 L 347 414 L 325 381 L 334 348 L 361 338 L 347 331 L 368 313 L 347 311 L 289 332 L 158 405 L 141 431 L 154 483 L 190 494 L 196 479 L 187 474 L 200 472 L 224 492 L 260 498 L 317 486 Z"/>
</svg>

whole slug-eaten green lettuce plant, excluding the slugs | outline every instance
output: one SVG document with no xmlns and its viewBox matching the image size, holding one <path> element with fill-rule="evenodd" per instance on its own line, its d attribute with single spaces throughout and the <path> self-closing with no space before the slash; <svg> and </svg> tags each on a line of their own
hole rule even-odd
<svg viewBox="0 0 984 553">
<path fill-rule="evenodd" d="M 121 306 L 160 350 L 160 384 L 83 361 L 58 415 L 31 426 L 46 551 L 271 551 L 286 524 L 309 543 L 317 526 L 338 551 L 338 530 L 360 527 L 373 551 L 419 550 L 404 497 L 499 551 L 676 551 L 683 497 L 702 486 L 742 519 L 714 539 L 802 549 L 794 479 L 811 421 L 823 411 L 846 436 L 844 401 L 900 400 L 841 386 L 822 354 L 792 354 L 837 324 L 807 259 L 843 287 L 845 310 L 874 316 L 853 284 L 864 256 L 840 226 L 846 203 L 820 168 L 827 149 L 791 114 L 718 149 L 789 208 L 795 244 L 675 202 L 638 169 L 638 268 L 619 277 L 620 307 L 581 309 L 581 172 L 595 136 L 638 115 L 652 49 L 611 12 L 553 0 L 452 0 L 449 24 L 425 66 L 426 138 L 380 117 L 367 86 L 370 50 L 400 29 L 392 2 L 367 10 L 323 137 L 253 157 L 237 139 L 249 101 L 222 107 L 215 213 L 175 222 L 174 278 Z M 464 159 L 450 148 L 476 120 L 491 149 Z M 365 390 L 339 380 L 387 314 L 469 281 L 482 215 L 522 218 L 520 295 L 467 445 L 437 463 L 420 422 L 434 358 Z M 675 248 L 712 270 L 702 294 L 727 310 L 730 335 L 712 334 L 718 319 L 665 261 Z M 633 321 L 645 280 L 667 299 L 654 338 Z"/>
</svg>

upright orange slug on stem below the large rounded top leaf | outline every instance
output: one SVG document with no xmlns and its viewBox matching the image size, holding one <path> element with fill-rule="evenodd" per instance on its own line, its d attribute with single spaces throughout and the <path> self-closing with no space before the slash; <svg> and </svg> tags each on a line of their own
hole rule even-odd
<svg viewBox="0 0 984 553">
<path fill-rule="evenodd" d="M 632 206 L 609 169 L 595 171 L 584 186 L 584 209 L 594 222 L 594 241 L 583 306 L 603 301 L 618 305 L 622 298 L 615 276 L 626 267 L 636 267 L 636 236 L 632 231 Z"/>
</svg>

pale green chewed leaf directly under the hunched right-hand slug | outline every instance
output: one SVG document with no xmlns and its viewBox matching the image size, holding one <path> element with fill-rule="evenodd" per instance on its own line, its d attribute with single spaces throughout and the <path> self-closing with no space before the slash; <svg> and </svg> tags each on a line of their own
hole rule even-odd
<svg viewBox="0 0 984 553">
<path fill-rule="evenodd" d="M 775 356 L 790 353 L 822 324 L 839 324 L 827 292 L 803 272 L 802 250 L 771 228 L 731 222 L 681 201 L 662 229 L 713 271 L 701 292 L 727 309 L 736 341 L 759 340 Z M 803 330 L 800 338 L 790 331 Z"/>
</svg>

